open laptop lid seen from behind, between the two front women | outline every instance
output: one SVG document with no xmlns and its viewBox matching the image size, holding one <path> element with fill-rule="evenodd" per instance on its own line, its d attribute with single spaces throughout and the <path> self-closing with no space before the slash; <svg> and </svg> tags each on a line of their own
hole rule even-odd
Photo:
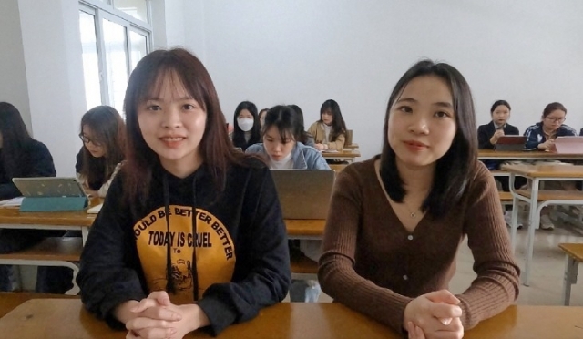
<svg viewBox="0 0 583 339">
<path fill-rule="evenodd" d="M 283 219 L 326 219 L 333 170 L 271 170 Z"/>
</svg>

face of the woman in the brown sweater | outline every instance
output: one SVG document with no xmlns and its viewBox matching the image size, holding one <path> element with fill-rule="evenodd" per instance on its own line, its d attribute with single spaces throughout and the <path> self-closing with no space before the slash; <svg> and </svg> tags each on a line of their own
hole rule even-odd
<svg viewBox="0 0 583 339">
<path fill-rule="evenodd" d="M 397 163 L 411 168 L 435 166 L 455 137 L 452 93 L 440 77 L 415 77 L 395 101 L 387 138 Z"/>
</svg>

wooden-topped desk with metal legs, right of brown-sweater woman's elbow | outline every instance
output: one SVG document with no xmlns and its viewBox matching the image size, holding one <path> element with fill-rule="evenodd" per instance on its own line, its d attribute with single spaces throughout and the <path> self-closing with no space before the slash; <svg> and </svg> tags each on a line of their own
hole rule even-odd
<svg viewBox="0 0 583 339">
<path fill-rule="evenodd" d="M 525 272 L 522 274 L 523 282 L 529 285 L 530 267 L 532 264 L 532 255 L 535 243 L 535 229 L 540 221 L 540 211 L 549 204 L 570 204 L 583 205 L 583 192 L 563 192 L 565 197 L 551 198 L 546 201 L 539 201 L 539 185 L 542 180 L 583 180 L 583 166 L 564 165 L 564 164 L 545 164 L 545 165 L 502 165 L 501 170 L 510 172 L 510 192 L 512 194 L 512 221 L 510 225 L 510 240 L 514 251 L 517 239 L 517 220 L 518 220 L 518 200 L 527 202 L 530 205 L 528 214 L 528 235 L 527 235 L 527 261 Z M 532 180 L 529 194 L 514 189 L 516 176 L 522 176 Z"/>
</svg>

